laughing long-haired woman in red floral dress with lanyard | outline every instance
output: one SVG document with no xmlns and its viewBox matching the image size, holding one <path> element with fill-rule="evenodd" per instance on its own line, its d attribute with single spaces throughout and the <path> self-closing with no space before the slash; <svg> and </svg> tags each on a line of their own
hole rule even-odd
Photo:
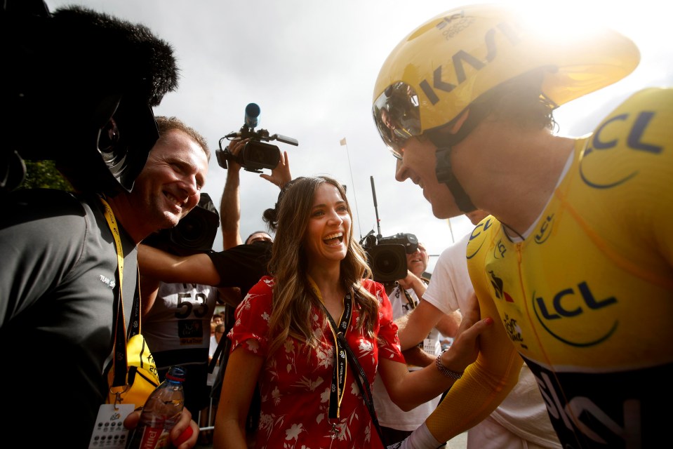
<svg viewBox="0 0 673 449">
<path fill-rule="evenodd" d="M 371 389 L 378 369 L 392 400 L 409 410 L 451 387 L 477 358 L 477 336 L 492 320 L 466 323 L 440 365 L 409 373 L 388 297 L 368 279 L 366 255 L 352 238 L 342 185 L 324 176 L 299 177 L 284 187 L 273 211 L 273 276 L 260 279 L 236 308 L 213 448 L 247 447 L 246 415 L 256 384 L 261 413 L 255 448 L 382 448 L 357 369 L 335 357 L 335 328 L 346 329 L 345 341 L 366 374 L 363 385 Z"/>
</svg>

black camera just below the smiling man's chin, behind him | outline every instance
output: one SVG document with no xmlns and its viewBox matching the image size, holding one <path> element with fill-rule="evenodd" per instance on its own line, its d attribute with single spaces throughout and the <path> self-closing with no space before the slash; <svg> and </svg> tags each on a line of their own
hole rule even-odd
<svg viewBox="0 0 673 449">
<path fill-rule="evenodd" d="M 213 248 L 218 227 L 220 214 L 211 197 L 204 193 L 199 205 L 182 217 L 178 225 L 155 232 L 142 243 L 176 255 L 204 253 Z"/>
</svg>

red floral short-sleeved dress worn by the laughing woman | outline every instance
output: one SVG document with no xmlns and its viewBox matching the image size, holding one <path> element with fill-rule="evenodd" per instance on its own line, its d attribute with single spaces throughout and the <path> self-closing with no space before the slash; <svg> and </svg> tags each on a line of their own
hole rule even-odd
<svg viewBox="0 0 673 449">
<path fill-rule="evenodd" d="M 382 448 L 382 443 L 361 396 L 354 370 L 348 365 L 344 395 L 333 439 L 328 418 L 330 389 L 334 369 L 334 341 L 329 325 L 321 323 L 324 312 L 314 308 L 314 333 L 321 342 L 317 350 L 290 337 L 285 346 L 269 358 L 267 337 L 272 310 L 274 279 L 265 276 L 236 307 L 236 323 L 227 337 L 232 351 L 243 348 L 265 357 L 259 384 L 262 397 L 260 427 L 256 448 L 353 449 Z M 404 363 L 392 308 L 380 283 L 366 280 L 363 286 L 378 298 L 381 307 L 374 326 L 375 337 L 356 329 L 359 311 L 353 308 L 346 340 L 358 357 L 370 387 L 374 382 L 379 356 Z M 378 337 L 378 338 L 377 338 Z"/>
</svg>

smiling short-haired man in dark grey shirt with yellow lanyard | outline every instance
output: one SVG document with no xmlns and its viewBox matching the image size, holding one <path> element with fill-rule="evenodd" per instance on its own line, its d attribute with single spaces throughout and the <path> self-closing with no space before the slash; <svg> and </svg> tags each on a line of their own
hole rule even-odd
<svg viewBox="0 0 673 449">
<path fill-rule="evenodd" d="M 12 360 L 32 358 L 32 349 L 40 347 L 46 366 L 59 367 L 50 377 L 69 393 L 59 410 L 73 420 L 73 435 L 68 439 L 73 448 L 87 447 L 99 406 L 107 397 L 102 373 L 112 351 L 113 306 L 118 295 L 124 302 L 124 326 L 133 325 L 136 245 L 187 215 L 198 203 L 206 180 L 205 141 L 176 119 L 157 120 L 161 138 L 132 192 L 27 189 L 8 194 L 4 203 L 8 213 L 0 222 L 0 250 L 5 255 L 0 286 L 6 293 L 1 301 L 0 335 L 20 342 L 6 348 Z M 124 261 L 119 264 L 123 277 L 117 275 L 118 254 Z M 31 370 L 13 384 L 25 385 L 21 404 L 33 404 L 31 413 L 52 388 L 40 370 Z M 44 411 L 52 414 L 47 408 Z M 22 424 L 28 413 L 17 413 L 16 424 Z M 186 421 L 176 424 L 175 438 L 189 426 L 191 414 L 183 416 Z M 198 426 L 192 424 L 197 434 Z"/>
</svg>

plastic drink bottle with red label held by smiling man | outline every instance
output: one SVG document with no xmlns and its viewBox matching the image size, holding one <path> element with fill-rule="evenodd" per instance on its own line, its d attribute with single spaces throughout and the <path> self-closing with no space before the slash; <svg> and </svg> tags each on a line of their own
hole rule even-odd
<svg viewBox="0 0 673 449">
<path fill-rule="evenodd" d="M 166 380 L 161 382 L 147 398 L 138 427 L 135 428 L 133 437 L 128 439 L 126 449 L 171 447 L 168 433 L 180 420 L 180 413 L 185 406 L 185 394 L 182 391 L 185 374 L 185 368 L 182 366 L 168 368 Z"/>
</svg>

